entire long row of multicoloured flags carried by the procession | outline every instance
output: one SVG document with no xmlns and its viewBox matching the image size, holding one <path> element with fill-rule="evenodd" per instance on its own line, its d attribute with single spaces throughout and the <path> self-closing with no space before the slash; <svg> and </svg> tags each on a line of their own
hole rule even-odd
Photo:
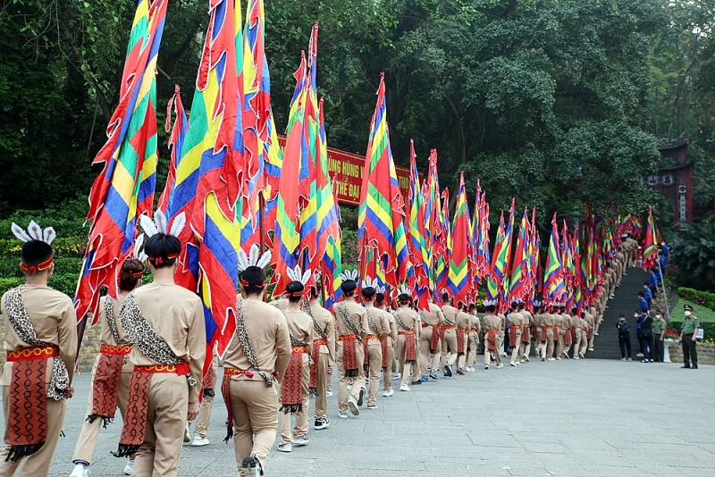
<svg viewBox="0 0 715 477">
<path fill-rule="evenodd" d="M 91 222 L 75 307 L 80 320 L 97 321 L 99 289 L 116 297 L 121 264 L 132 253 L 142 214 L 154 213 L 156 60 L 167 0 L 139 0 L 122 74 L 120 100 L 108 140 L 94 163 L 104 164 L 89 195 Z M 265 57 L 263 0 L 208 0 L 209 22 L 190 115 L 175 88 L 167 106 L 171 162 L 157 210 L 171 222 L 184 214 L 184 245 L 176 281 L 203 300 L 206 346 L 223 356 L 235 331 L 238 255 L 254 244 L 272 248 L 273 297 L 290 282 L 289 270 L 310 271 L 308 286 L 328 308 L 341 299 L 341 226 L 336 188 L 328 172 L 324 101 L 317 91 L 318 25 L 301 54 L 290 101 L 285 146 L 273 122 Z M 641 234 L 634 216 L 617 222 L 588 214 L 585 224 L 559 232 L 556 215 L 545 264 L 536 209 L 525 208 L 515 231 L 515 204 L 501 212 L 490 248 L 489 204 L 477 181 L 473 213 L 464 175 L 450 219 L 450 192 L 440 187 L 437 152 L 425 180 L 410 147 L 408 197 L 402 197 L 391 153 L 384 77 L 370 124 L 358 208 L 360 276 L 394 297 L 407 285 L 419 309 L 443 292 L 463 305 L 585 306 L 626 233 Z M 407 198 L 407 200 L 405 200 Z M 656 232 L 647 222 L 644 261 Z M 516 237 L 516 244 L 514 239 Z M 649 242 L 649 238 L 651 241 Z M 583 249 L 582 249 L 583 245 Z M 210 364 L 210 360 L 207 360 Z"/>
</svg>

